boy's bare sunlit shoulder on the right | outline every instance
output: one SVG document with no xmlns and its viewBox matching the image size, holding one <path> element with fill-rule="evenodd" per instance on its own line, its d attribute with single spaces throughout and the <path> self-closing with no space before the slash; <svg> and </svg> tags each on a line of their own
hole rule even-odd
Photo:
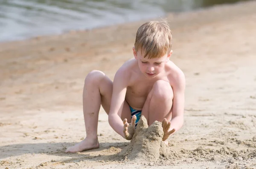
<svg viewBox="0 0 256 169">
<path fill-rule="evenodd" d="M 183 71 L 171 61 L 167 65 L 167 76 L 172 87 L 185 88 L 186 80 Z"/>
</svg>

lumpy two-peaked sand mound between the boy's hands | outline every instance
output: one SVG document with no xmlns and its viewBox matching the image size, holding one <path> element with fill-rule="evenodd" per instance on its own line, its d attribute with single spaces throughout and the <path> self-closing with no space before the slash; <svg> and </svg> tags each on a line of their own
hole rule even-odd
<svg viewBox="0 0 256 169">
<path fill-rule="evenodd" d="M 136 161 L 156 161 L 161 158 L 176 157 L 175 154 L 172 154 L 173 151 L 163 143 L 162 138 L 162 123 L 155 121 L 148 127 L 147 120 L 142 115 L 130 144 L 117 155 Z"/>
</svg>

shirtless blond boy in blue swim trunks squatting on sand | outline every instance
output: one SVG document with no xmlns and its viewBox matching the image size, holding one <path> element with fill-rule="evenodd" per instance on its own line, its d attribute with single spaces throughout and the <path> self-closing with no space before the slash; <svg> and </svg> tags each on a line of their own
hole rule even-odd
<svg viewBox="0 0 256 169">
<path fill-rule="evenodd" d="M 86 138 L 67 148 L 66 152 L 99 147 L 100 105 L 108 113 L 108 122 L 113 130 L 127 140 L 131 140 L 141 115 L 145 116 L 148 125 L 156 120 L 162 121 L 163 141 L 182 127 L 185 77 L 169 60 L 172 32 L 168 23 L 150 21 L 141 25 L 133 54 L 134 59 L 117 70 L 113 82 L 98 70 L 86 76 L 83 91 Z"/>
</svg>

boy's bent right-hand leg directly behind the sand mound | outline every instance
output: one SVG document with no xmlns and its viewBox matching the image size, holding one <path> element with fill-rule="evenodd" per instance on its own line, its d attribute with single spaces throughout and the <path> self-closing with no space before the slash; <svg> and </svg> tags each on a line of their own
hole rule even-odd
<svg viewBox="0 0 256 169">
<path fill-rule="evenodd" d="M 158 80 L 154 83 L 142 109 L 142 115 L 148 120 L 148 125 L 154 121 L 172 119 L 173 90 L 168 82 Z"/>
</svg>

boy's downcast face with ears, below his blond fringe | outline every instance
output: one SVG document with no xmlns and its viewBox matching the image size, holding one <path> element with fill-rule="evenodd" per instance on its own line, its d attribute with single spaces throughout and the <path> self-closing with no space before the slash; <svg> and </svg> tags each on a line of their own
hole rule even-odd
<svg viewBox="0 0 256 169">
<path fill-rule="evenodd" d="M 135 59 L 137 59 L 138 61 L 140 71 L 146 77 L 154 78 L 164 70 L 165 64 L 169 61 L 172 51 L 169 54 L 165 54 L 161 58 L 152 58 L 152 59 L 148 59 L 148 56 L 144 58 L 143 53 L 141 53 L 140 50 L 136 52 L 135 48 L 133 48 L 133 53 L 134 53 Z"/>
</svg>

